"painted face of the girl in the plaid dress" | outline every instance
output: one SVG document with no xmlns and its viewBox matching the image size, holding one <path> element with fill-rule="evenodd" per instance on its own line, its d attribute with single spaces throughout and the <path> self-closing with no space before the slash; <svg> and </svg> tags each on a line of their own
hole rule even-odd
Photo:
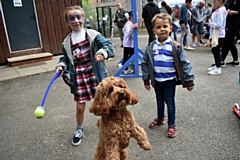
<svg viewBox="0 0 240 160">
<path fill-rule="evenodd" d="M 79 31 L 83 28 L 84 16 L 81 10 L 70 10 L 67 13 L 68 25 L 72 31 Z"/>
</svg>

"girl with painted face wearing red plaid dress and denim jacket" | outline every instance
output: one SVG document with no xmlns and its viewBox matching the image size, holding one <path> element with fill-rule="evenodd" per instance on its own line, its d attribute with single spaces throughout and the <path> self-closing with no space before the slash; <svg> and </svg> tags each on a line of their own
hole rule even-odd
<svg viewBox="0 0 240 160">
<path fill-rule="evenodd" d="M 83 28 L 85 14 L 80 6 L 67 7 L 64 16 L 71 33 L 62 43 L 63 57 L 59 59 L 56 72 L 69 70 L 71 73 L 71 93 L 76 102 L 77 121 L 72 145 L 76 146 L 84 135 L 86 102 L 93 100 L 98 83 L 108 76 L 104 60 L 114 57 L 115 53 L 112 43 L 99 32 Z"/>
</svg>

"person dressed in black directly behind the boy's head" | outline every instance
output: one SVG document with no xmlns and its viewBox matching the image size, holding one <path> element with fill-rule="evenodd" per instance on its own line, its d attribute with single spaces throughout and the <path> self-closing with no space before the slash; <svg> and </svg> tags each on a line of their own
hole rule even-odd
<svg viewBox="0 0 240 160">
<path fill-rule="evenodd" d="M 158 6 L 153 3 L 153 0 L 147 0 L 148 3 L 143 7 L 143 12 L 142 12 L 142 20 L 144 21 L 144 24 L 147 28 L 147 32 L 149 35 L 148 38 L 148 44 L 150 44 L 152 41 L 154 41 L 156 39 L 155 34 L 153 33 L 152 30 L 152 18 L 160 13 L 160 10 L 158 8 Z"/>
</svg>

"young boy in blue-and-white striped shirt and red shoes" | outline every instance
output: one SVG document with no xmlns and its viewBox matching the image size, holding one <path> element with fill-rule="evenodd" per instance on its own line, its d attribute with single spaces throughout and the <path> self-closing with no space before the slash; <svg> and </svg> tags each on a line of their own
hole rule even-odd
<svg viewBox="0 0 240 160">
<path fill-rule="evenodd" d="M 152 19 L 153 32 L 158 37 L 147 46 L 143 61 L 142 79 L 145 88 L 150 90 L 150 82 L 156 93 L 157 118 L 149 125 L 155 128 L 165 122 L 164 103 L 168 107 L 168 137 L 176 136 L 175 129 L 175 89 L 177 77 L 180 77 L 184 87 L 189 91 L 194 88 L 194 75 L 185 52 L 181 46 L 174 46 L 169 37 L 172 31 L 172 17 L 160 13 Z"/>
</svg>

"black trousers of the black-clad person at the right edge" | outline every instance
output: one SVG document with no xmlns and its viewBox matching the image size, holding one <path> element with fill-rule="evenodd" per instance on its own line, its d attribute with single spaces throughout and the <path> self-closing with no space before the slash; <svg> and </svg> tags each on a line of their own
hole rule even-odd
<svg viewBox="0 0 240 160">
<path fill-rule="evenodd" d="M 226 31 L 226 36 L 222 48 L 222 61 L 225 61 L 229 50 L 232 53 L 232 57 L 234 61 L 238 61 L 238 51 L 237 47 L 235 46 L 234 39 L 236 37 L 236 34 L 228 34 L 228 31 Z"/>
</svg>

